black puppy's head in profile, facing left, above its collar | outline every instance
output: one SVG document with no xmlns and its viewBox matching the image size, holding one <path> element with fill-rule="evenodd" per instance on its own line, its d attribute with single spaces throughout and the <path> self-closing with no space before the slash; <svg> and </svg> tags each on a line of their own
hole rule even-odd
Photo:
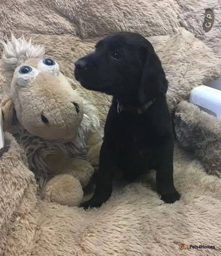
<svg viewBox="0 0 221 256">
<path fill-rule="evenodd" d="M 151 43 L 140 34 L 122 32 L 99 41 L 95 51 L 75 62 L 75 77 L 84 88 L 140 102 L 167 91 L 167 80 Z"/>
</svg>

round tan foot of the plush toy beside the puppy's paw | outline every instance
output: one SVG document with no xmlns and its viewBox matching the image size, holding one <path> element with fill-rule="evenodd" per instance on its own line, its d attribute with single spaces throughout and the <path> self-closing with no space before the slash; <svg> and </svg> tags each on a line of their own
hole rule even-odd
<svg viewBox="0 0 221 256">
<path fill-rule="evenodd" d="M 53 177 L 42 191 L 43 199 L 67 206 L 79 206 L 83 195 L 80 181 L 69 174 Z"/>
</svg>

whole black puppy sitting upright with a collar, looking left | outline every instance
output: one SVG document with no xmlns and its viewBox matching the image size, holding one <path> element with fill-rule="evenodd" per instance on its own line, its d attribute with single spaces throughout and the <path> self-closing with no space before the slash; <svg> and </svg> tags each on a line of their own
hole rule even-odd
<svg viewBox="0 0 221 256">
<path fill-rule="evenodd" d="M 84 88 L 113 95 L 95 194 L 84 208 L 99 207 L 110 197 L 115 166 L 130 181 L 155 168 L 161 199 L 179 200 L 173 184 L 168 82 L 151 43 L 130 32 L 107 36 L 96 44 L 95 52 L 75 62 L 75 77 Z"/>
</svg>

